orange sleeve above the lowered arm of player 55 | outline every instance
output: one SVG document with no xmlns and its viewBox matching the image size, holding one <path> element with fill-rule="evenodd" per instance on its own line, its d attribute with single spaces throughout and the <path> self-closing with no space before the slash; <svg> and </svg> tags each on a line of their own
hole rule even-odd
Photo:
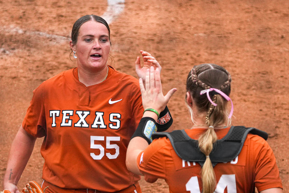
<svg viewBox="0 0 289 193">
<path fill-rule="evenodd" d="M 43 87 L 44 83 L 33 90 L 33 97 L 30 102 L 30 106 L 28 107 L 25 118 L 22 122 L 24 130 L 38 138 L 44 137 L 46 135 Z"/>
</svg>

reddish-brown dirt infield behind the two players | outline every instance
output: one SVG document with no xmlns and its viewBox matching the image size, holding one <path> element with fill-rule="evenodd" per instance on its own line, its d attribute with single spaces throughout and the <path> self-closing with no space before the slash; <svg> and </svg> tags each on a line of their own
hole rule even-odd
<svg viewBox="0 0 289 193">
<path fill-rule="evenodd" d="M 32 91 L 73 68 L 69 38 L 86 14 L 103 15 L 105 0 L 0 0 L 0 190 L 10 144 L 22 123 Z M 232 75 L 233 125 L 269 133 L 284 192 L 289 192 L 289 1 L 126 0 L 110 24 L 112 66 L 136 76 L 139 50 L 163 67 L 163 90 L 178 91 L 169 102 L 173 128 L 190 128 L 185 79 L 193 65 L 216 63 Z M 18 183 L 41 183 L 43 159 L 36 141 Z M 144 193 L 169 192 L 166 183 L 141 180 Z"/>
</svg>

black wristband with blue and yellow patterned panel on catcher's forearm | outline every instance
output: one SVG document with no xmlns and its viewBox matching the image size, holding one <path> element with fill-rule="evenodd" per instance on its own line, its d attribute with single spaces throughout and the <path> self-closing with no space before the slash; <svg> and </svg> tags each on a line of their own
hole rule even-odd
<svg viewBox="0 0 289 193">
<path fill-rule="evenodd" d="M 156 132 L 157 132 L 156 121 L 151 117 L 143 117 L 141 118 L 138 127 L 135 130 L 135 133 L 132 135 L 132 138 L 141 137 L 144 138 L 146 141 L 148 141 L 148 144 L 150 144 L 153 141 L 151 135 Z"/>
</svg>

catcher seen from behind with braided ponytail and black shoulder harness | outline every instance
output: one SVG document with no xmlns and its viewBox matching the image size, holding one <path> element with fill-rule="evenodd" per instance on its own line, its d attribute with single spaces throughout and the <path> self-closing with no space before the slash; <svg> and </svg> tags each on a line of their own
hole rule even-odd
<svg viewBox="0 0 289 193">
<path fill-rule="evenodd" d="M 144 109 L 156 112 L 176 90 L 163 96 L 158 69 L 147 72 L 145 88 L 140 85 Z M 145 111 L 129 143 L 128 169 L 147 182 L 165 179 L 174 193 L 250 193 L 255 187 L 262 193 L 283 192 L 276 159 L 264 140 L 268 135 L 255 128 L 231 127 L 230 90 L 231 76 L 224 68 L 194 66 L 185 97 L 194 126 L 154 134 L 157 113 Z"/>
</svg>

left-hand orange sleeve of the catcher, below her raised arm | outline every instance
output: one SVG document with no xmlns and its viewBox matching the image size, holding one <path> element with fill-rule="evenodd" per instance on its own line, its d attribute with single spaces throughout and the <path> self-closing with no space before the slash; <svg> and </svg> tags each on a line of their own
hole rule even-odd
<svg viewBox="0 0 289 193">
<path fill-rule="evenodd" d="M 155 139 L 137 158 L 138 169 L 144 175 L 145 181 L 153 183 L 158 178 L 166 177 L 166 157 L 170 150 L 166 138 Z"/>
</svg>

